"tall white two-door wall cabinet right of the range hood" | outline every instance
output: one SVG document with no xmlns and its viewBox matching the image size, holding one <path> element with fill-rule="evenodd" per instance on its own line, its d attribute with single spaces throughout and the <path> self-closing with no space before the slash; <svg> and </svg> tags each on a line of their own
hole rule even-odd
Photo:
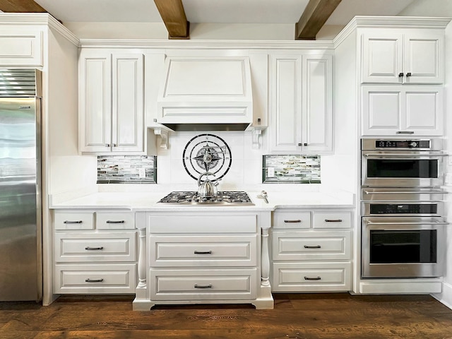
<svg viewBox="0 0 452 339">
<path fill-rule="evenodd" d="M 332 64 L 331 55 L 271 56 L 270 153 L 331 153 Z"/>
</svg>

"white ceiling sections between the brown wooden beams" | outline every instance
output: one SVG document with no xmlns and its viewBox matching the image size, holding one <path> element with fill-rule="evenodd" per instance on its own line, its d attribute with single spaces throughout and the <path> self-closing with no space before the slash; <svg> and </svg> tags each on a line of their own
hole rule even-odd
<svg viewBox="0 0 452 339">
<path fill-rule="evenodd" d="M 152 0 L 35 0 L 63 22 L 161 23 Z M 417 0 L 342 0 L 326 25 L 396 16 Z M 191 23 L 296 23 L 309 0 L 182 0 Z"/>
</svg>

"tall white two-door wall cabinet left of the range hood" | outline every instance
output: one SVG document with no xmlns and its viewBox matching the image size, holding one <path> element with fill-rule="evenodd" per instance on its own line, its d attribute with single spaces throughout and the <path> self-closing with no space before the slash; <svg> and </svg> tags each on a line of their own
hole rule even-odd
<svg viewBox="0 0 452 339">
<path fill-rule="evenodd" d="M 79 150 L 143 153 L 143 54 L 82 49 L 79 60 Z"/>
</svg>

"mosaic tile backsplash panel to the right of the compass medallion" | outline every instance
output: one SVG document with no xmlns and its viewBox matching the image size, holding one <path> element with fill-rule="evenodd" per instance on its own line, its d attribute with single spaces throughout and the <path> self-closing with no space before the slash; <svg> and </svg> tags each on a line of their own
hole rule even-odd
<svg viewBox="0 0 452 339">
<path fill-rule="evenodd" d="M 265 184 L 320 184 L 320 155 L 263 155 Z"/>
</svg>

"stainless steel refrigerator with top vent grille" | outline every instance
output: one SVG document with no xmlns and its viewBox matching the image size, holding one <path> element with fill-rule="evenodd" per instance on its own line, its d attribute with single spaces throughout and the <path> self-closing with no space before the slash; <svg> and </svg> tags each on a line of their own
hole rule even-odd
<svg viewBox="0 0 452 339">
<path fill-rule="evenodd" d="M 0 301 L 42 299 L 40 79 L 0 69 Z"/>
</svg>

